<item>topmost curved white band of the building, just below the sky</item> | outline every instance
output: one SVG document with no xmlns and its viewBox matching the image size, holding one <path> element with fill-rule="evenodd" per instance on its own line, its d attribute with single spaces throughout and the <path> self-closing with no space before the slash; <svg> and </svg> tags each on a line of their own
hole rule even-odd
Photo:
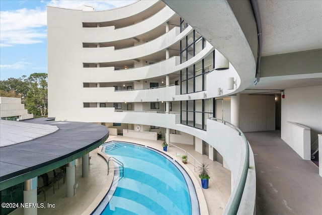
<svg viewBox="0 0 322 215">
<path fill-rule="evenodd" d="M 84 11 L 83 22 L 87 23 L 101 23 L 114 21 L 115 18 L 118 20 L 131 18 L 141 13 L 147 13 L 151 8 L 157 6 L 159 1 L 138 1 L 126 7 L 116 8 L 107 11 Z"/>
</svg>

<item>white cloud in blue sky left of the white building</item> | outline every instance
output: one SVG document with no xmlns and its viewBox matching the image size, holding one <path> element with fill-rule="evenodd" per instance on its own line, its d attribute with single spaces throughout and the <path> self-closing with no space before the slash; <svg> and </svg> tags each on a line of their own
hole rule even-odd
<svg viewBox="0 0 322 215">
<path fill-rule="evenodd" d="M 47 37 L 46 10 L 26 8 L 0 14 L 1 47 L 40 43 Z"/>
</svg>

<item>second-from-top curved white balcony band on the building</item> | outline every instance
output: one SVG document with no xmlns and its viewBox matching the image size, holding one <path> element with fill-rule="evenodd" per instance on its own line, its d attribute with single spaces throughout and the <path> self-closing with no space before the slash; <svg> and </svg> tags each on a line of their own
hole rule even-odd
<svg viewBox="0 0 322 215">
<path fill-rule="evenodd" d="M 140 1 L 145 2 L 145 1 Z M 115 29 L 114 26 L 102 27 L 102 28 L 83 28 L 82 36 L 83 42 L 86 43 L 102 43 L 111 42 L 123 39 L 130 39 L 142 34 L 145 34 L 159 26 L 164 25 L 168 20 L 174 17 L 176 14 L 169 7 L 165 7 L 157 14 L 150 18 L 143 20 L 142 22 L 135 23 L 134 25 Z"/>
</svg>

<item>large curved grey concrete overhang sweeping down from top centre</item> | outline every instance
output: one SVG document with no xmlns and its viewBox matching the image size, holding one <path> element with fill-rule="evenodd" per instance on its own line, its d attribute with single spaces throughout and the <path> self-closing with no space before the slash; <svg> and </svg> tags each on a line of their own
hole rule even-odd
<svg viewBox="0 0 322 215">
<path fill-rule="evenodd" d="M 256 59 L 253 53 L 257 51 L 257 46 L 254 45 L 257 38 L 253 35 L 257 35 L 257 27 L 254 17 L 248 20 L 248 14 L 238 14 L 239 19 L 247 21 L 247 25 L 240 26 L 227 1 L 203 1 L 202 4 L 199 1 L 163 2 L 205 37 L 234 66 L 241 80 L 236 92 L 245 90 L 255 81 Z M 253 13 L 249 1 L 238 1 L 238 4 L 243 4 L 243 8 Z M 244 20 L 241 22 L 245 23 Z"/>
</svg>

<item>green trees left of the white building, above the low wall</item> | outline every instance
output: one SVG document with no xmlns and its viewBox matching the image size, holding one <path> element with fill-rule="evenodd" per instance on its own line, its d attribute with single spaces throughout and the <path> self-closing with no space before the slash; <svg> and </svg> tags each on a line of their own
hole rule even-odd
<svg viewBox="0 0 322 215">
<path fill-rule="evenodd" d="M 25 108 L 35 117 L 47 115 L 47 74 L 33 73 L 28 78 L 9 78 L 0 81 L 0 93 L 4 97 L 21 98 Z"/>
</svg>

